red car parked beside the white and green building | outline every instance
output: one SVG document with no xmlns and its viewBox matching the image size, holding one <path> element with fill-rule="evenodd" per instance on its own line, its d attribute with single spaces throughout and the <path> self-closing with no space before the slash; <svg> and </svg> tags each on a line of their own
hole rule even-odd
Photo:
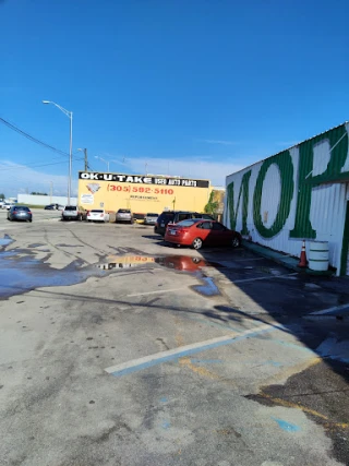
<svg viewBox="0 0 349 466">
<path fill-rule="evenodd" d="M 169 225 L 165 241 L 177 246 L 191 246 L 201 249 L 203 246 L 241 246 L 241 235 L 214 220 L 191 218 L 177 225 Z"/>
</svg>

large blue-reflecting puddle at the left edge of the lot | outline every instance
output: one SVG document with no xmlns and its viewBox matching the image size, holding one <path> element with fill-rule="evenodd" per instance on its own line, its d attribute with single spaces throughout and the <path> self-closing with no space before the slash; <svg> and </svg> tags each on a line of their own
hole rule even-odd
<svg viewBox="0 0 349 466">
<path fill-rule="evenodd" d="M 70 286 L 91 276 L 103 276 L 95 267 L 79 268 L 82 261 L 74 261 L 62 270 L 51 268 L 33 256 L 19 256 L 23 251 L 7 251 L 0 254 L 0 298 L 21 295 L 35 288 Z"/>
</svg>

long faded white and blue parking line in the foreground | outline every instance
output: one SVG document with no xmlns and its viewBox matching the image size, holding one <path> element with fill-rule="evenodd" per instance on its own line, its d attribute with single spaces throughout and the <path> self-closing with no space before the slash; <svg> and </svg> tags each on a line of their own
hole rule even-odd
<svg viewBox="0 0 349 466">
<path fill-rule="evenodd" d="M 241 332 L 238 335 L 226 335 L 218 338 L 207 339 L 205 342 L 194 343 L 192 345 L 182 346 L 180 348 L 169 349 L 168 351 L 157 353 L 155 355 L 145 356 L 144 358 L 134 359 L 132 361 L 122 362 L 117 366 L 105 369 L 106 372 L 111 373 L 115 377 L 125 375 L 132 372 L 137 372 L 143 369 L 148 369 L 163 362 L 169 362 L 178 360 L 179 358 L 195 355 L 197 353 L 205 351 L 207 349 L 219 348 L 220 346 L 231 345 L 241 339 L 245 339 L 249 336 L 260 335 L 263 332 L 272 332 L 279 330 L 274 325 L 265 324 L 254 328 Z"/>
</svg>

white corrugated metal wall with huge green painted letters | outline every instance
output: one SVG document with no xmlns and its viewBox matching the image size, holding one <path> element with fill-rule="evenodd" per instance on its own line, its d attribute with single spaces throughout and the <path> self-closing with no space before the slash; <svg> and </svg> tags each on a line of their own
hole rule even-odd
<svg viewBox="0 0 349 466">
<path fill-rule="evenodd" d="M 349 124 L 328 130 L 227 177 L 225 223 L 252 241 L 291 255 L 301 241 L 329 242 L 340 270 Z M 308 251 L 309 252 L 309 251 Z"/>
</svg>

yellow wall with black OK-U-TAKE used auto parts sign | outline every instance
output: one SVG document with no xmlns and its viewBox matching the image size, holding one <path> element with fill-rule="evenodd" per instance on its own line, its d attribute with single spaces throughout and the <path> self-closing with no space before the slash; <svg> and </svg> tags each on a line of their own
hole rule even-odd
<svg viewBox="0 0 349 466">
<path fill-rule="evenodd" d="M 160 214 L 164 210 L 203 212 L 210 192 L 208 180 L 124 174 L 79 174 L 79 205 L 86 210 Z"/>
</svg>

